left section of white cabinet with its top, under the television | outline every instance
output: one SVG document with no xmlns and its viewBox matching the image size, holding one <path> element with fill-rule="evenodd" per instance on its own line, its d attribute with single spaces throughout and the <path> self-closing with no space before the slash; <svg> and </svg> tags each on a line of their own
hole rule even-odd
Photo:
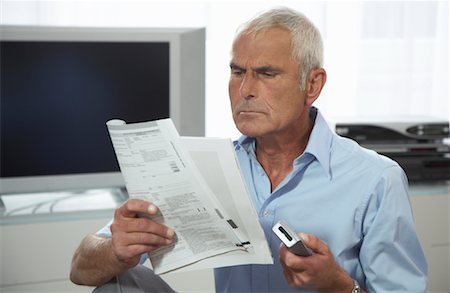
<svg viewBox="0 0 450 293">
<path fill-rule="evenodd" d="M 91 292 L 69 281 L 72 255 L 124 198 L 109 189 L 3 195 L 0 291 Z"/>
</svg>

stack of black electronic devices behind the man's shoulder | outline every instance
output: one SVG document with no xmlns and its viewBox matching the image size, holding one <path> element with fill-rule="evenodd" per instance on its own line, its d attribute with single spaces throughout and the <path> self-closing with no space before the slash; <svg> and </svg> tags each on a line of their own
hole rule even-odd
<svg viewBox="0 0 450 293">
<path fill-rule="evenodd" d="M 409 181 L 450 180 L 448 121 L 411 117 L 403 121 L 336 121 L 337 134 L 395 160 Z"/>
</svg>

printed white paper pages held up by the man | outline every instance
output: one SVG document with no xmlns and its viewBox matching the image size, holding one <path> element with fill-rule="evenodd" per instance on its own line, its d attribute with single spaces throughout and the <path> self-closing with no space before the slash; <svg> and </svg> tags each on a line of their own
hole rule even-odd
<svg viewBox="0 0 450 293">
<path fill-rule="evenodd" d="M 176 232 L 149 253 L 155 273 L 273 263 L 229 139 L 180 137 L 170 119 L 107 126 L 128 194 Z"/>
</svg>

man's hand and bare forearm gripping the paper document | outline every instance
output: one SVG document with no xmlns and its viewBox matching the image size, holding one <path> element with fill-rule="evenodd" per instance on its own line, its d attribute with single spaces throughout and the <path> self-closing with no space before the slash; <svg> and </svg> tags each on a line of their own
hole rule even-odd
<svg viewBox="0 0 450 293">
<path fill-rule="evenodd" d="M 175 232 L 152 220 L 158 208 L 146 201 L 129 199 L 116 209 L 112 238 L 88 235 L 72 258 L 70 280 L 79 285 L 100 286 L 136 266 L 143 253 L 170 244 Z"/>
</svg>

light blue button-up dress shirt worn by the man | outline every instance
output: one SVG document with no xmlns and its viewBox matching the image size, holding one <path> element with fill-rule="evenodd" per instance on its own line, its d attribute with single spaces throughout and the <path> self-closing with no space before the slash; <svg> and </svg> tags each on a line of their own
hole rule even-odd
<svg viewBox="0 0 450 293">
<path fill-rule="evenodd" d="M 289 287 L 278 261 L 280 241 L 271 228 L 283 219 L 325 241 L 369 292 L 426 292 L 427 264 L 405 173 L 396 162 L 335 134 L 316 108 L 310 116 L 314 127 L 306 150 L 273 192 L 256 159 L 255 139 L 235 142 L 274 264 L 215 269 L 216 291 L 301 291 Z"/>
</svg>

